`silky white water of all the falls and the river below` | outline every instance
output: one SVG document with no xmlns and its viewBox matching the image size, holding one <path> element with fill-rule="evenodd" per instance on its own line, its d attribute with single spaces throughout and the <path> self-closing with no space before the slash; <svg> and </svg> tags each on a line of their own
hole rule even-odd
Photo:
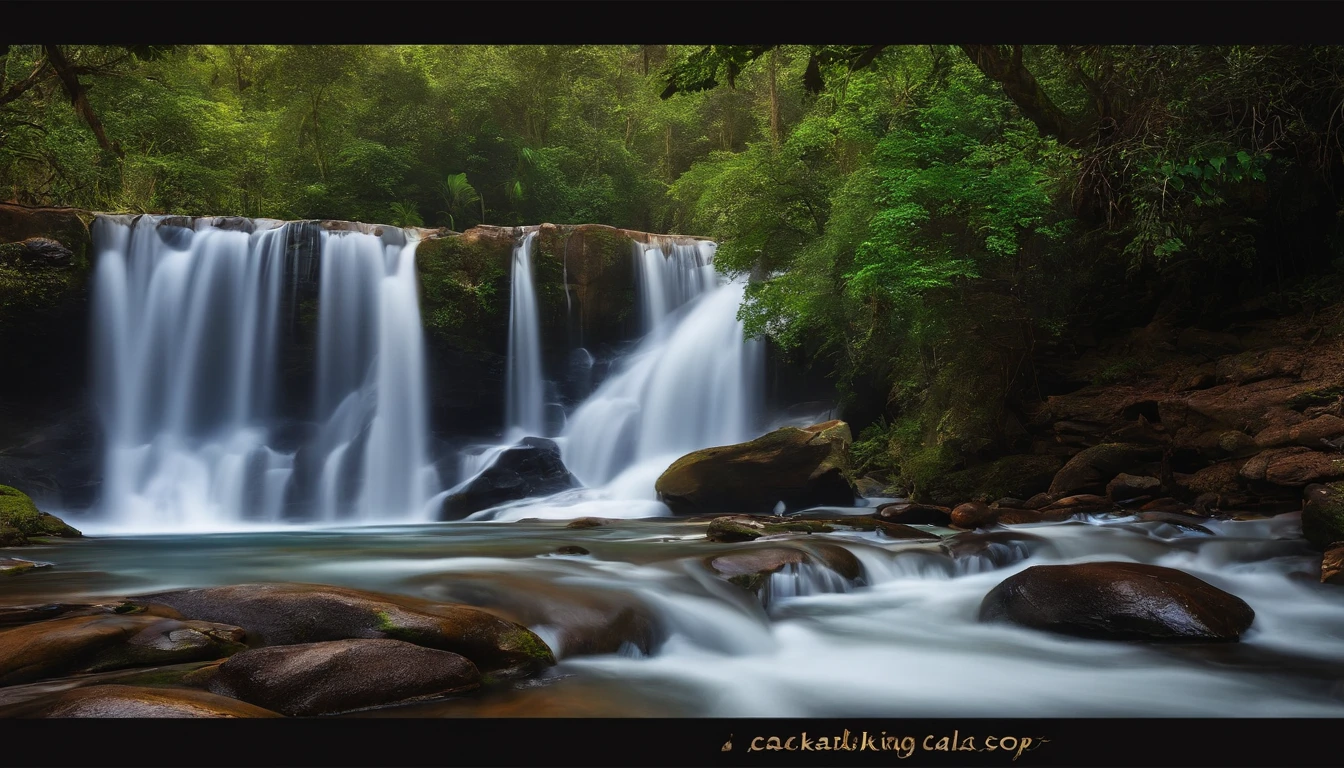
<svg viewBox="0 0 1344 768">
<path fill-rule="evenodd" d="M 1320 555 L 1297 514 L 1203 530 L 1105 516 L 992 533 L 922 526 L 938 541 L 839 530 L 739 545 L 710 542 L 707 521 L 669 516 L 653 482 L 676 457 L 784 422 L 761 406 L 762 350 L 737 320 L 745 286 L 714 273 L 706 241 L 634 245 L 645 335 L 562 428 L 540 434 L 583 487 L 427 522 L 493 456 L 547 430 L 535 235 L 520 237 L 513 260 L 505 443 L 461 456 L 454 483 L 426 455 L 433 382 L 417 237 L 304 226 L 99 219 L 103 500 L 52 510 L 90 535 L 13 550 L 54 566 L 7 580 L 0 605 L 331 584 L 493 609 L 559 659 L 476 697 L 353 717 L 1344 716 L 1344 601 L 1317 582 Z M 321 253 L 320 278 L 297 241 Z M 317 295 L 317 375 L 309 412 L 284 414 L 276 359 L 305 280 Z M 581 516 L 607 522 L 567 527 Z M 818 560 L 753 594 L 707 566 L 817 542 L 847 549 L 860 573 Z M 1243 599 L 1255 620 L 1222 646 L 978 621 L 984 596 L 1013 573 L 1089 561 L 1181 569 Z M 605 652 L 579 652 L 594 639 Z M 125 674 L 11 686 L 0 705 Z"/>
</svg>

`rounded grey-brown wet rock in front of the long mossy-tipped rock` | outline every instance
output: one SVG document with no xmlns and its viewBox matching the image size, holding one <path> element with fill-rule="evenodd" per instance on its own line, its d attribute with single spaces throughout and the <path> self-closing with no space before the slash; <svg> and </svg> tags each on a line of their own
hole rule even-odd
<svg viewBox="0 0 1344 768">
<path fill-rule="evenodd" d="M 470 660 L 401 640 L 329 640 L 230 658 L 208 690 L 290 717 L 349 712 L 480 686 Z"/>
</svg>

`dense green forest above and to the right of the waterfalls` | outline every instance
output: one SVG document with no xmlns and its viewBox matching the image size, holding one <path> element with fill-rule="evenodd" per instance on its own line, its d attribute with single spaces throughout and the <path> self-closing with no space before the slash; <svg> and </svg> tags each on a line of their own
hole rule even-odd
<svg viewBox="0 0 1344 768">
<path fill-rule="evenodd" d="M 0 50 L 12 202 L 712 235 L 913 486 L 1097 334 L 1344 284 L 1339 47 Z"/>
</svg>

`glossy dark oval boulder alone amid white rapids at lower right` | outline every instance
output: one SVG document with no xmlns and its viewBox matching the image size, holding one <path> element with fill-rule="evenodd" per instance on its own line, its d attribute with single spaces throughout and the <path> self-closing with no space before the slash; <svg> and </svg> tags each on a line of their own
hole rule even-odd
<svg viewBox="0 0 1344 768">
<path fill-rule="evenodd" d="M 1235 642 L 1255 612 L 1181 570 L 1134 562 L 1038 565 L 985 596 L 981 621 L 1106 640 Z"/>
</svg>

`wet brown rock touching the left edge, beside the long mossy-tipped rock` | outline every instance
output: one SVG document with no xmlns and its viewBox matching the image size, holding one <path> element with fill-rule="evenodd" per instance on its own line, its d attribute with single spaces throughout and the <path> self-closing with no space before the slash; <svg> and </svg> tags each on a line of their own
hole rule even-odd
<svg viewBox="0 0 1344 768">
<path fill-rule="evenodd" d="M 0 685 L 75 673 L 218 659 L 243 650 L 243 631 L 149 615 L 52 619 L 0 631 Z"/>
</svg>

